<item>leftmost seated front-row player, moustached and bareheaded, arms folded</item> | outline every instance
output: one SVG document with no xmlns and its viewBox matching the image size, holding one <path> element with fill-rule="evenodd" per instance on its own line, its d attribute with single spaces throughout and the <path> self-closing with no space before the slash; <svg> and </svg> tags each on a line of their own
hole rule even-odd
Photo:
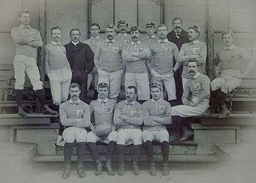
<svg viewBox="0 0 256 183">
<path fill-rule="evenodd" d="M 83 157 L 87 131 L 84 128 L 92 126 L 92 123 L 90 122 L 90 106 L 79 99 L 80 92 L 79 84 L 70 84 L 70 100 L 60 105 L 60 121 L 66 127 L 63 131 L 65 140 L 63 179 L 67 179 L 70 174 L 72 146 L 75 141 L 77 144 L 77 173 L 79 177 L 85 176 Z"/>
</svg>

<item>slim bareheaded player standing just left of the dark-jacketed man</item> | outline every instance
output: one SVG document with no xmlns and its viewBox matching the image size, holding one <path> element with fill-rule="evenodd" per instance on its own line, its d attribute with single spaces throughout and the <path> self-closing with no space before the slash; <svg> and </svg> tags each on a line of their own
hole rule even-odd
<svg viewBox="0 0 256 183">
<path fill-rule="evenodd" d="M 45 47 L 45 71 L 51 84 L 54 105 L 67 101 L 72 72 L 68 63 L 66 49 L 60 43 L 61 28 L 52 27 L 52 41 Z"/>
</svg>

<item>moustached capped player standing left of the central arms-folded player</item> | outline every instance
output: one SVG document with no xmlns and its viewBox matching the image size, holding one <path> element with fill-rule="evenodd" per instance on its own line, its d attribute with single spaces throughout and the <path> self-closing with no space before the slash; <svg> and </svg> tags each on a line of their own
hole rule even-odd
<svg viewBox="0 0 256 183">
<path fill-rule="evenodd" d="M 117 100 L 123 75 L 121 52 L 124 44 L 116 40 L 115 35 L 116 27 L 108 25 L 107 38 L 100 42 L 95 59 L 99 62 L 99 83 L 108 84 L 109 98 Z"/>
</svg>

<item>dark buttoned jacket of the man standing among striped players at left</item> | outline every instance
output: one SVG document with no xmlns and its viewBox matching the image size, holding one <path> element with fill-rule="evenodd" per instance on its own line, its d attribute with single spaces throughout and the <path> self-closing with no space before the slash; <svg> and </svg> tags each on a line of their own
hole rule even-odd
<svg viewBox="0 0 256 183">
<path fill-rule="evenodd" d="M 89 45 L 80 41 L 77 46 L 70 41 L 64 47 L 66 48 L 67 59 L 73 74 L 72 82 L 81 84 L 88 73 L 93 70 L 93 51 Z"/>
</svg>

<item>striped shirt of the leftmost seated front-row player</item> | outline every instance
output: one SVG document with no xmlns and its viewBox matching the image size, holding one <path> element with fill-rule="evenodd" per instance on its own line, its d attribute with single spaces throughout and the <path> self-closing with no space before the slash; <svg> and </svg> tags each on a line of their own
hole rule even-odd
<svg viewBox="0 0 256 183">
<path fill-rule="evenodd" d="M 78 122 L 77 119 L 83 119 L 83 122 Z M 63 126 L 74 126 L 77 128 L 87 128 L 91 126 L 90 106 L 81 100 L 77 102 L 68 100 L 61 103 L 60 122 Z"/>
</svg>

